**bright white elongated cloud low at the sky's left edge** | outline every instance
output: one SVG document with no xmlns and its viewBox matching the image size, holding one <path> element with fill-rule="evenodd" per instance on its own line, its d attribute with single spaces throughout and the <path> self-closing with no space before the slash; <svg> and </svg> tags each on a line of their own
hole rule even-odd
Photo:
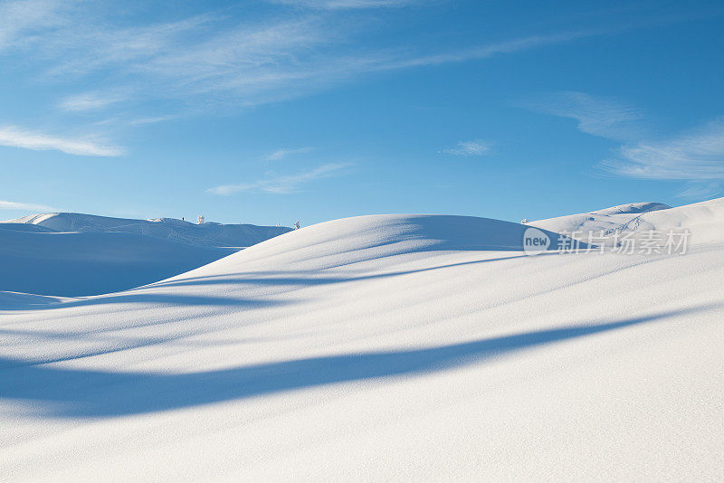
<svg viewBox="0 0 724 483">
<path fill-rule="evenodd" d="M 24 147 L 38 151 L 57 150 L 79 156 L 121 156 L 122 147 L 100 144 L 89 139 L 71 139 L 24 130 L 14 126 L 0 126 L 0 146 Z"/>
</svg>

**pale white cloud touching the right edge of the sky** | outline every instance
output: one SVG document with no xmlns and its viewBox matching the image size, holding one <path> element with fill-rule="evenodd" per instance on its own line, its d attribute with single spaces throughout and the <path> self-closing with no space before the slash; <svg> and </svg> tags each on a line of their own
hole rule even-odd
<svg viewBox="0 0 724 483">
<path fill-rule="evenodd" d="M 670 139 L 623 146 L 602 167 L 639 179 L 724 179 L 724 120 Z"/>
</svg>

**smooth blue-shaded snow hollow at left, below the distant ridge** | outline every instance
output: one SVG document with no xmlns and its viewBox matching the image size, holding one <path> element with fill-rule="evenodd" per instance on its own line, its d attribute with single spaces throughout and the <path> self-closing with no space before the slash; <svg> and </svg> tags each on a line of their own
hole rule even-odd
<svg viewBox="0 0 724 483">
<path fill-rule="evenodd" d="M 116 292 L 167 279 L 234 251 L 131 233 L 30 232 L 0 225 L 0 290 L 66 297 Z"/>
</svg>

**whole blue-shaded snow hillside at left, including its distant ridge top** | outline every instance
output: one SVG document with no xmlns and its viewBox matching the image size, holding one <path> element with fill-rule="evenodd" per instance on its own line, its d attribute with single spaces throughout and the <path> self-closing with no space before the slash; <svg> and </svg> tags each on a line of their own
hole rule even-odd
<svg viewBox="0 0 724 483">
<path fill-rule="evenodd" d="M 290 228 L 196 225 L 81 213 L 0 223 L 0 291 L 78 297 L 133 289 L 218 260 Z M 17 299 L 8 294 L 1 298 Z"/>
</svg>

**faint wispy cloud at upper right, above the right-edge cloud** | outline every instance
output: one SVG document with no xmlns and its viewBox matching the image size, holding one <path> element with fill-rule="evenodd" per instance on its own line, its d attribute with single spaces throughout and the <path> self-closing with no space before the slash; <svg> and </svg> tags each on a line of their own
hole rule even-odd
<svg viewBox="0 0 724 483">
<path fill-rule="evenodd" d="M 557 92 L 523 103 L 524 107 L 552 116 L 572 118 L 587 134 L 616 140 L 640 139 L 643 114 L 618 99 L 584 92 Z"/>
</svg>

